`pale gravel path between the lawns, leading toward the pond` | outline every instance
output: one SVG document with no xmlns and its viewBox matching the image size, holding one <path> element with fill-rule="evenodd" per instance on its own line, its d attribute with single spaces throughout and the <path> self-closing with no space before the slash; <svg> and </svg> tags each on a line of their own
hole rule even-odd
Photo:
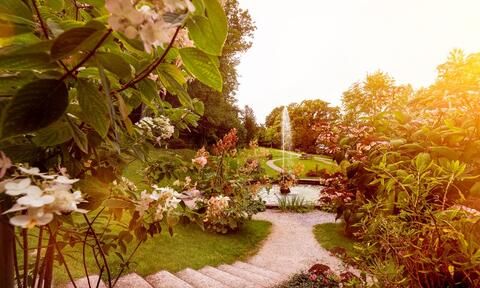
<svg viewBox="0 0 480 288">
<path fill-rule="evenodd" d="M 334 222 L 334 214 L 320 211 L 299 214 L 267 210 L 254 218 L 272 222 L 273 226 L 264 246 L 248 262 L 286 275 L 308 270 L 315 263 L 328 265 L 337 273 L 343 270 L 342 261 L 323 249 L 313 235 L 313 226 Z"/>
</svg>

